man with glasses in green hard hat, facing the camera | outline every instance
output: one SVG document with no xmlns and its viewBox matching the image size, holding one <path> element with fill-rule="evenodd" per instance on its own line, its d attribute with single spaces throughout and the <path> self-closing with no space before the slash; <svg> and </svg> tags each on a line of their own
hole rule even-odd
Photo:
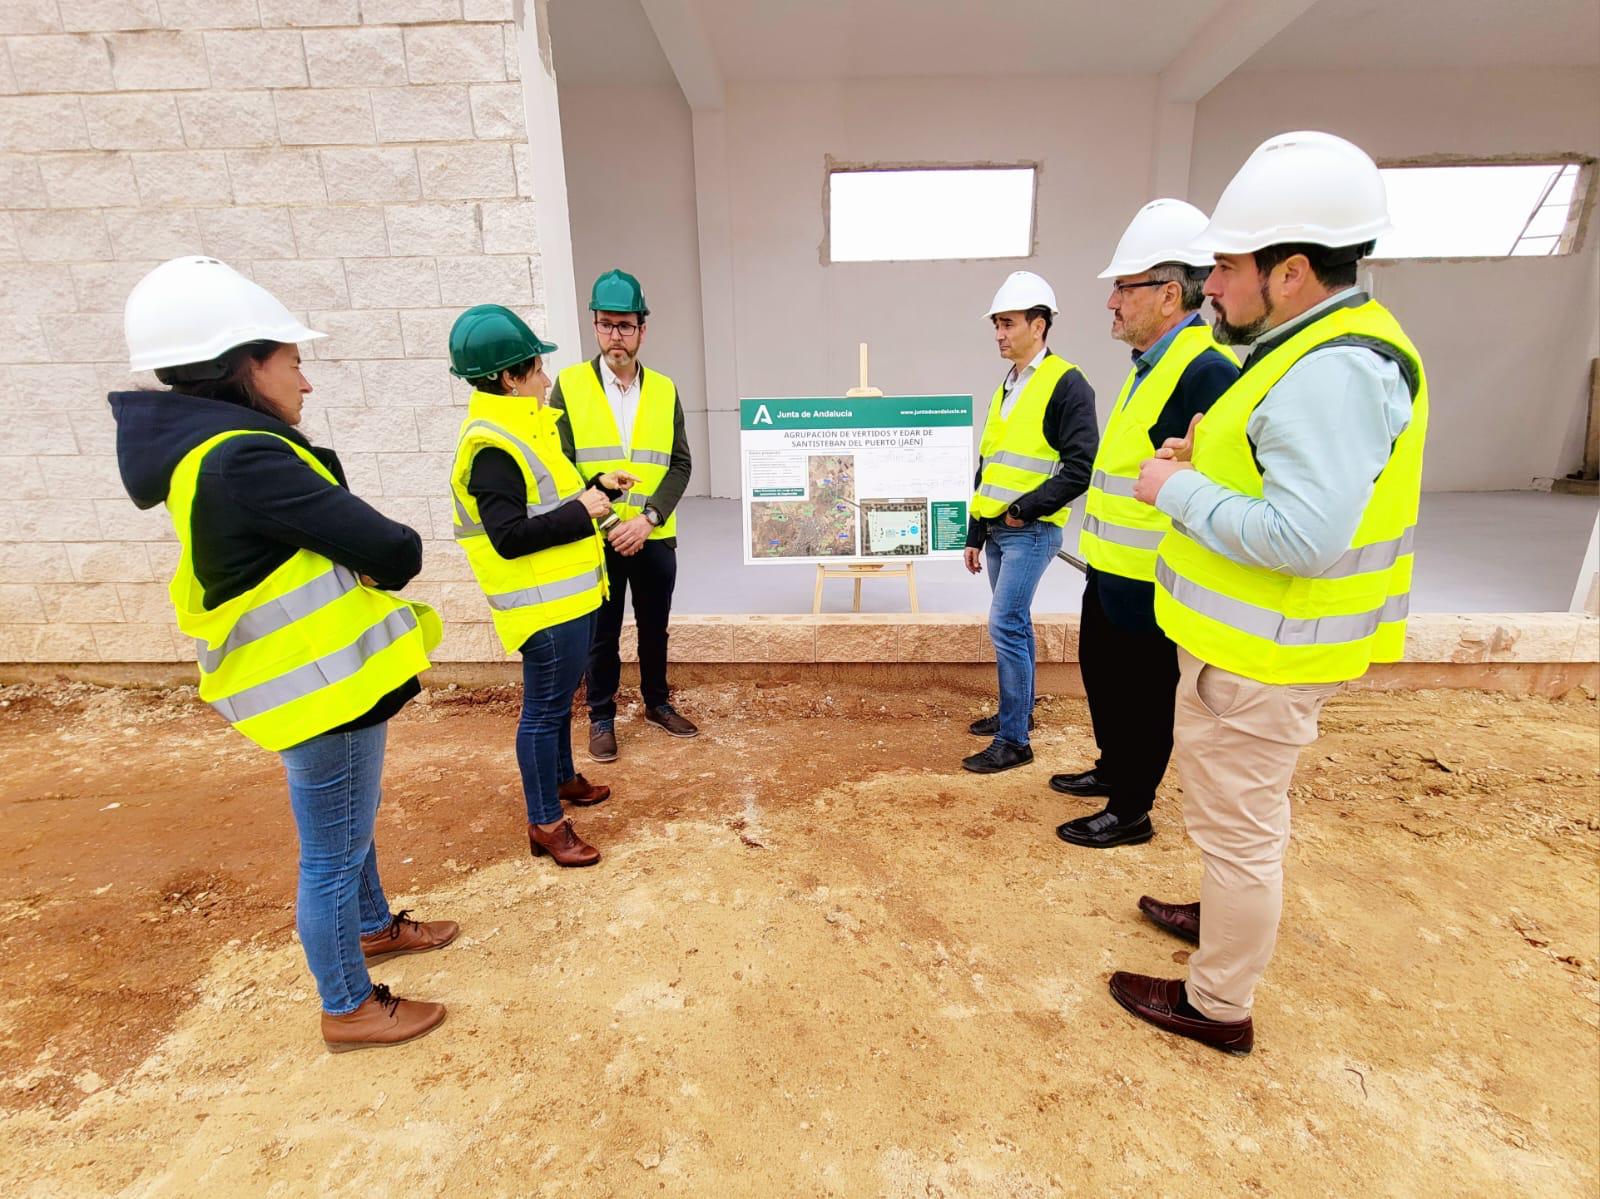
<svg viewBox="0 0 1600 1199">
<path fill-rule="evenodd" d="M 606 471 L 637 477 L 613 504 L 621 520 L 606 533 L 611 594 L 600 605 L 589 650 L 589 757 L 610 762 L 618 754 L 616 688 L 622 676 L 618 640 L 629 587 L 638 624 L 645 719 L 672 736 L 699 732 L 672 706 L 667 688 L 667 620 L 678 576 L 675 509 L 690 483 L 691 464 L 677 386 L 638 362 L 650 315 L 638 280 L 626 271 L 606 271 L 589 295 L 589 311 L 600 352 L 555 378 L 550 407 L 566 411 L 562 447 L 584 479 Z"/>
</svg>

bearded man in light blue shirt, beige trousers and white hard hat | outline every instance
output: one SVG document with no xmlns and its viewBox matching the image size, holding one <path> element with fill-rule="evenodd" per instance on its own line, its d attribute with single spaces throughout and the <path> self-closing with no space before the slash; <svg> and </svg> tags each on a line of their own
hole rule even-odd
<svg viewBox="0 0 1600 1199">
<path fill-rule="evenodd" d="M 1195 248 L 1243 373 L 1139 471 L 1173 519 L 1155 618 L 1178 642 L 1174 740 L 1198 904 L 1139 908 L 1198 949 L 1187 980 L 1114 973 L 1125 1009 L 1230 1053 L 1277 943 L 1290 780 L 1339 687 L 1398 661 L 1422 485 L 1427 381 L 1394 315 L 1355 287 L 1389 229 L 1378 166 L 1328 133 L 1285 133 L 1234 176 Z"/>
</svg>

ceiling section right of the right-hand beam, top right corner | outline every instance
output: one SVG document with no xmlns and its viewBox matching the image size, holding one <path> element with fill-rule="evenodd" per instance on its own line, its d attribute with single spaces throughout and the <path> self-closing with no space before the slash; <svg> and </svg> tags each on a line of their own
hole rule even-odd
<svg viewBox="0 0 1600 1199">
<path fill-rule="evenodd" d="M 1597 0 L 1317 0 L 1243 70 L 1600 66 Z"/>
</svg>

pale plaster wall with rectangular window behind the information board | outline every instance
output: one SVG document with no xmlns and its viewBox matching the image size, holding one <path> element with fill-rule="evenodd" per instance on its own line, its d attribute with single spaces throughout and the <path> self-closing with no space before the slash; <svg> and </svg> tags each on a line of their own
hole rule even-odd
<svg viewBox="0 0 1600 1199">
<path fill-rule="evenodd" d="M 1050 344 L 1077 362 L 1101 416 L 1128 370 L 1096 279 L 1149 198 L 1154 78 L 733 85 L 728 179 L 739 395 L 829 395 L 872 346 L 886 392 L 971 392 L 1005 365 L 984 312 L 1011 271 L 1051 282 Z M 1005 261 L 821 261 L 824 158 L 1040 163 L 1035 255 Z M 736 495 L 734 397 L 712 397 L 712 493 Z M 979 407 L 979 411 L 982 408 Z"/>
</svg>

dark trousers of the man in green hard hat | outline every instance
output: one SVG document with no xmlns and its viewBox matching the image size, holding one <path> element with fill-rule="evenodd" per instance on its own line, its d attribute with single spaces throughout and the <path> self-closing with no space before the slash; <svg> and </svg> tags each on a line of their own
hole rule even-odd
<svg viewBox="0 0 1600 1199">
<path fill-rule="evenodd" d="M 595 640 L 589 648 L 589 720 L 616 719 L 616 687 L 622 677 L 618 640 L 622 636 L 624 592 L 634 591 L 634 623 L 638 626 L 638 692 L 645 708 L 667 701 L 667 618 L 672 586 L 678 581 L 678 551 L 664 541 L 646 541 L 632 557 L 605 549 L 611 595 L 595 613 Z"/>
</svg>

